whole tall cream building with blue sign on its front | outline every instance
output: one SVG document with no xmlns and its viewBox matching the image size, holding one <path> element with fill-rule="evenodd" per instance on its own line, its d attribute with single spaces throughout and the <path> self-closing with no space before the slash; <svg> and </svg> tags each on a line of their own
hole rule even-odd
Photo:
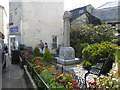
<svg viewBox="0 0 120 90">
<path fill-rule="evenodd" d="M 35 47 L 40 40 L 47 42 L 51 52 L 63 44 L 62 0 L 59 2 L 9 2 L 9 43 Z M 9 47 L 11 47 L 11 45 Z"/>
</svg>

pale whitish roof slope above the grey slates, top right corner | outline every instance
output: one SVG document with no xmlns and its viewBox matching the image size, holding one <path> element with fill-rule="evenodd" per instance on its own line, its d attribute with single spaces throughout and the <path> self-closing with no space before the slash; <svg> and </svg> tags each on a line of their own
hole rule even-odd
<svg viewBox="0 0 120 90">
<path fill-rule="evenodd" d="M 101 5 L 97 9 L 111 8 L 111 7 L 117 7 L 117 6 L 120 6 L 120 0 L 107 2 L 106 4 Z"/>
</svg>

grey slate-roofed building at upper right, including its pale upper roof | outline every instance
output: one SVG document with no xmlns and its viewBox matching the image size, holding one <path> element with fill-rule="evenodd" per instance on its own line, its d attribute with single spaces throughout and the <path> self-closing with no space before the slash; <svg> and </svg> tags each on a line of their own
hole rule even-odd
<svg viewBox="0 0 120 90">
<path fill-rule="evenodd" d="M 107 22 L 120 29 L 120 0 L 107 2 L 93 10 L 92 14 L 98 17 L 102 23 Z"/>
</svg>

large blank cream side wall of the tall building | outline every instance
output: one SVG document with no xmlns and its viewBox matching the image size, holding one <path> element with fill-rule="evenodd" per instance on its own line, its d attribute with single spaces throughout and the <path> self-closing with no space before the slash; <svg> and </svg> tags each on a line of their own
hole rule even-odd
<svg viewBox="0 0 120 90">
<path fill-rule="evenodd" d="M 48 43 L 51 50 L 52 36 L 63 43 L 63 13 L 61 2 L 23 3 L 23 40 L 26 45 L 36 46 L 40 40 Z"/>
</svg>

